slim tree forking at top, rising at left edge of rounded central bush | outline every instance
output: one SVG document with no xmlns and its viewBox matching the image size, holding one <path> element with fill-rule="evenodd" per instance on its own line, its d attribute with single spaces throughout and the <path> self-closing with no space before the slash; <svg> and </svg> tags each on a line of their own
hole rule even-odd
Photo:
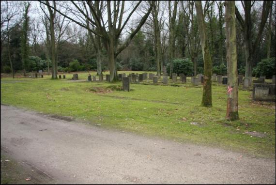
<svg viewBox="0 0 276 185">
<path fill-rule="evenodd" d="M 173 63 L 174 51 L 175 51 L 175 20 L 176 20 L 178 0 L 174 1 L 173 10 L 171 10 L 170 2 L 171 0 L 169 0 L 169 61 L 170 61 L 169 76 L 171 77 L 172 69 L 173 69 L 172 63 Z"/>
</svg>

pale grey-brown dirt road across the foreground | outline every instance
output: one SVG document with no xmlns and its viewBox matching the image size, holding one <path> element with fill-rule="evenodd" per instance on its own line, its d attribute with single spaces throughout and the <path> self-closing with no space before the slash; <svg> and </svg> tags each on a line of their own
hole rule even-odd
<svg viewBox="0 0 276 185">
<path fill-rule="evenodd" d="M 275 184 L 275 159 L 146 138 L 1 105 L 1 149 L 68 184 Z"/>
</svg>

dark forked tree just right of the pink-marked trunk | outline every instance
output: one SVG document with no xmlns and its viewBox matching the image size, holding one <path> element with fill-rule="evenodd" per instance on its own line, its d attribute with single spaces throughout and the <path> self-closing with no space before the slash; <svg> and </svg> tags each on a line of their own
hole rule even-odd
<svg viewBox="0 0 276 185">
<path fill-rule="evenodd" d="M 240 14 L 239 10 L 237 7 L 235 7 L 235 15 L 237 17 L 238 22 L 240 23 L 242 27 L 242 31 L 244 33 L 244 48 L 245 48 L 245 79 L 248 80 L 249 83 L 245 83 L 245 88 L 248 88 L 252 84 L 252 63 L 254 60 L 254 53 L 256 51 L 257 46 L 260 43 L 261 40 L 261 34 L 264 29 L 264 26 L 267 21 L 267 17 L 270 11 L 270 6 L 272 4 L 272 1 L 270 0 L 264 0 L 262 4 L 262 12 L 261 12 L 261 23 L 259 26 L 259 31 L 258 34 L 255 38 L 253 39 L 252 36 L 252 20 L 251 20 L 251 8 L 253 6 L 253 3 L 251 0 L 245 0 L 242 1 L 242 5 L 245 11 L 245 19 L 242 17 Z M 248 85 L 248 86 L 247 86 Z"/>
</svg>

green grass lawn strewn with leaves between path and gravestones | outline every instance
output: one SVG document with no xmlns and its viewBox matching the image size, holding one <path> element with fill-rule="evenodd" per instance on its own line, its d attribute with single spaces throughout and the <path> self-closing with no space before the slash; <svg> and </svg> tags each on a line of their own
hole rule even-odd
<svg viewBox="0 0 276 185">
<path fill-rule="evenodd" d="M 150 85 L 152 80 L 145 80 L 130 84 L 131 91 L 123 92 L 114 89 L 114 86 L 122 86 L 122 82 L 73 82 L 69 80 L 73 73 L 65 75 L 66 79 L 57 80 L 46 75 L 44 78 L 2 77 L 1 104 L 70 116 L 141 135 L 199 143 L 257 157 L 275 157 L 275 102 L 252 101 L 252 91 L 244 91 L 242 86 L 239 89 L 240 120 L 230 122 L 224 119 L 227 86 L 216 82 L 212 86 L 213 107 L 204 108 L 200 106 L 202 85 L 191 85 L 189 77 L 185 84 L 181 84 L 178 77 L 174 86 L 170 82 L 163 85 L 161 80 L 158 85 Z M 78 76 L 87 79 L 88 73 L 78 73 Z M 271 79 L 266 81 L 271 82 Z M 112 86 L 109 91 L 108 86 Z M 190 124 L 192 122 L 199 124 Z M 247 131 L 262 133 L 264 137 L 244 134 Z"/>
</svg>

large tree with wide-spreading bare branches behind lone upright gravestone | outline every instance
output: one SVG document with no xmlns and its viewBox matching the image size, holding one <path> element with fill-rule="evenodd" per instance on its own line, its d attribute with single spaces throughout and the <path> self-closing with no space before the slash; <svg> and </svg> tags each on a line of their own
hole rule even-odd
<svg viewBox="0 0 276 185">
<path fill-rule="evenodd" d="M 44 3 L 43 1 L 40 1 Z M 73 19 L 68 15 L 61 13 L 61 11 L 57 10 L 56 7 L 50 6 L 46 4 L 49 8 L 56 10 L 61 15 L 65 16 L 69 20 L 77 23 L 79 26 L 86 28 L 88 31 L 91 31 L 95 35 L 98 35 L 102 38 L 103 44 L 107 50 L 108 55 L 108 68 L 110 73 L 110 81 L 114 81 L 118 79 L 117 70 L 116 70 L 116 57 L 125 49 L 129 44 L 132 38 L 136 35 L 136 33 L 140 30 L 140 28 L 145 23 L 147 17 L 149 16 L 153 3 L 148 10 L 148 12 L 143 15 L 141 20 L 138 22 L 136 29 L 130 33 L 127 39 L 124 41 L 123 44 L 120 44 L 119 38 L 122 36 L 123 29 L 127 22 L 130 20 L 130 17 L 133 13 L 137 10 L 139 4 L 142 1 L 138 1 L 138 3 L 134 6 L 133 10 L 130 14 L 126 17 L 123 22 L 123 14 L 124 11 L 124 1 L 112 1 L 113 8 L 111 8 L 111 1 L 71 1 L 72 6 L 67 4 L 66 9 L 74 15 L 77 16 L 77 19 Z M 100 7 L 104 6 L 107 7 L 107 11 L 100 12 L 101 14 L 97 14 L 99 12 Z M 73 10 L 72 7 L 76 9 Z M 88 13 L 88 14 L 87 14 Z M 107 17 L 107 22 L 104 22 L 104 17 Z M 89 20 L 89 24 L 94 26 L 96 30 L 92 30 L 87 27 L 87 21 Z"/>
</svg>

